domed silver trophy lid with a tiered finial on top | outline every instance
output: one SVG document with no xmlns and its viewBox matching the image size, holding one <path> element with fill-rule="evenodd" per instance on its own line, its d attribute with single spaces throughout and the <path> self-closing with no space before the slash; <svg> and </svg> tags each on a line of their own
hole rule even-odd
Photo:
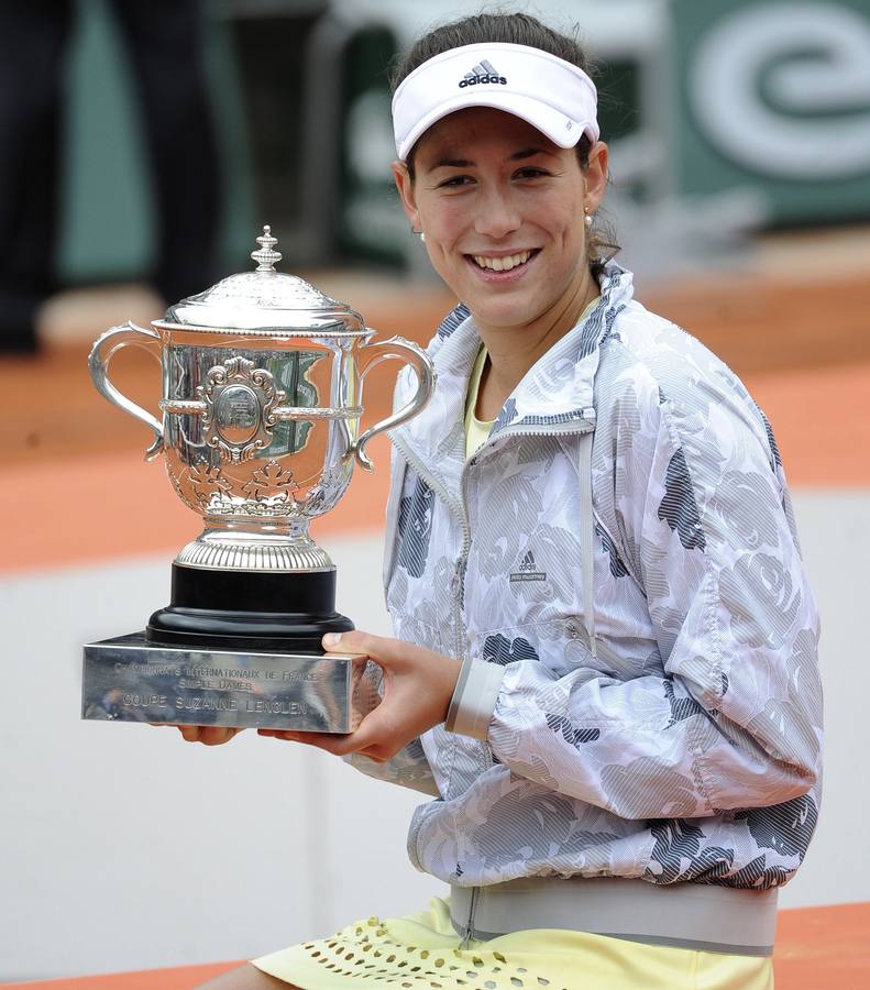
<svg viewBox="0 0 870 990">
<path fill-rule="evenodd" d="M 157 327 L 198 328 L 227 331 L 256 331 L 274 334 L 341 332 L 366 334 L 362 317 L 345 302 L 326 296 L 297 275 L 275 271 L 280 253 L 277 239 L 265 226 L 256 239 L 257 262 L 253 272 L 230 275 L 217 285 L 176 302 L 166 310 Z"/>
</svg>

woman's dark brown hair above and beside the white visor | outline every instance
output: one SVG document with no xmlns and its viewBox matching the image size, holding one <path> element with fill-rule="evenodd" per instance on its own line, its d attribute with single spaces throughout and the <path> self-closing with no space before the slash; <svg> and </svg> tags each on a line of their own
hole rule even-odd
<svg viewBox="0 0 870 990">
<path fill-rule="evenodd" d="M 400 56 L 389 75 L 389 84 L 395 92 L 401 81 L 425 62 L 460 48 L 463 45 L 507 43 L 514 45 L 527 45 L 530 48 L 540 48 L 550 55 L 555 55 L 563 62 L 569 62 L 583 69 L 587 76 L 593 76 L 594 66 L 590 56 L 583 51 L 576 37 L 560 34 L 547 24 L 542 24 L 537 18 L 526 13 L 480 13 L 433 28 L 428 34 L 418 38 L 411 47 Z M 416 147 L 416 146 L 415 146 Z M 408 152 L 406 165 L 414 182 L 414 152 Z M 580 167 L 585 172 L 590 166 L 590 151 L 592 141 L 587 134 L 583 134 L 575 151 Z M 590 268 L 593 276 L 598 279 L 604 271 L 605 262 L 619 251 L 619 245 L 614 240 L 614 233 L 609 227 L 602 227 L 597 222 L 588 234 Z"/>
</svg>

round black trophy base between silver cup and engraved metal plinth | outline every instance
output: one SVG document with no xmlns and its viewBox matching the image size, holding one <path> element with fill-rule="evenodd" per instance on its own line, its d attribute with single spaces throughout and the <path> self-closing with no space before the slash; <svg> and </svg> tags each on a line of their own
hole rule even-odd
<svg viewBox="0 0 870 990">
<path fill-rule="evenodd" d="M 188 649 L 320 656 L 324 632 L 353 623 L 335 612 L 335 571 L 221 571 L 173 564 L 172 601 L 148 619 L 148 642 Z"/>
</svg>

